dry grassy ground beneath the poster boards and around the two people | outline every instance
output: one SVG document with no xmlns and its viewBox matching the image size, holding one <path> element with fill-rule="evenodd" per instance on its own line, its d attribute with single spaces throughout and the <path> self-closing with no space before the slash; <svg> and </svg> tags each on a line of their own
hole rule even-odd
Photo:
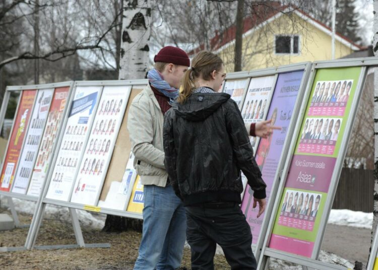
<svg viewBox="0 0 378 270">
<path fill-rule="evenodd" d="M 8 213 L 0 209 L 0 213 Z M 19 215 L 20 222 L 30 224 L 30 215 Z M 120 234 L 101 233 L 83 228 L 86 243 L 110 243 L 110 248 L 73 248 L 56 250 L 31 250 L 0 252 L 0 269 L 132 269 L 138 256 L 141 233 L 135 231 Z M 23 246 L 28 228 L 0 231 L 0 246 Z M 36 245 L 76 244 L 72 225 L 58 220 L 44 219 Z M 184 249 L 182 267 L 190 269 L 190 249 Z M 221 255 L 214 260 L 216 269 L 227 269 L 227 262 Z"/>
</svg>

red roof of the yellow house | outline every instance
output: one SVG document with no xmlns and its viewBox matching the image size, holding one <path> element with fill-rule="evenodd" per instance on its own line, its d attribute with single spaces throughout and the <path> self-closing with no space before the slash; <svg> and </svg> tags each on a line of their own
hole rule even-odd
<svg viewBox="0 0 378 270">
<path fill-rule="evenodd" d="M 264 2 L 264 3 L 258 3 L 257 5 L 254 5 L 253 11 L 251 12 L 251 16 L 248 16 L 244 19 L 244 25 L 243 25 L 243 34 L 249 31 L 250 29 L 253 29 L 257 27 L 258 25 L 262 24 L 263 22 L 269 20 L 270 18 L 276 16 L 278 13 L 283 12 L 285 9 L 289 8 L 287 5 L 281 6 L 279 2 Z M 300 12 L 304 16 L 308 17 L 309 19 L 313 20 L 314 22 L 322 25 L 323 27 L 327 28 L 331 31 L 331 28 L 326 26 L 325 24 L 321 23 L 320 21 L 312 18 L 310 15 L 305 13 L 304 11 L 293 7 L 296 11 Z M 362 48 L 361 46 L 355 44 L 353 41 L 348 39 L 347 37 L 341 35 L 340 33 L 336 33 L 337 36 L 340 38 L 346 40 L 347 42 L 351 43 L 352 45 Z M 225 31 L 223 31 L 221 34 L 218 34 L 218 31 L 215 33 L 215 36 L 210 39 L 210 50 L 217 50 L 220 47 L 226 45 L 227 43 L 233 41 L 236 36 L 236 26 L 230 26 Z M 193 55 L 195 53 L 198 53 L 201 50 L 205 49 L 205 44 L 201 44 L 199 47 L 191 50 L 188 52 L 188 55 Z"/>
</svg>

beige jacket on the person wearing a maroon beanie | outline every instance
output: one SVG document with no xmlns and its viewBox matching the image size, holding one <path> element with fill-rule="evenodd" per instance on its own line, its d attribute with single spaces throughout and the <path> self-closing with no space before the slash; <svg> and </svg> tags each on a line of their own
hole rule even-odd
<svg viewBox="0 0 378 270">
<path fill-rule="evenodd" d="M 167 182 L 163 122 L 159 103 L 148 85 L 134 98 L 128 115 L 131 149 L 135 155 L 134 168 L 144 185 L 165 186 Z"/>
</svg>

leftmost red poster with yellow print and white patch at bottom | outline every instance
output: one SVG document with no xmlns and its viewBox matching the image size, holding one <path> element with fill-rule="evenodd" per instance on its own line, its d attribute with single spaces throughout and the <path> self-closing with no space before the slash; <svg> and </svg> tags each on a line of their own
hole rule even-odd
<svg viewBox="0 0 378 270">
<path fill-rule="evenodd" d="M 0 179 L 0 190 L 2 191 L 9 192 L 11 189 L 36 93 L 36 90 L 24 90 L 22 92 L 7 154 L 3 163 L 2 176 Z"/>
</svg>

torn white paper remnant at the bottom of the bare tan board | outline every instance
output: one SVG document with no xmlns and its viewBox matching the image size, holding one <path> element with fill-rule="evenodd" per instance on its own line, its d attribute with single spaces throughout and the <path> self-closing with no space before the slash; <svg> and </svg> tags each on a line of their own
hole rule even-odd
<svg viewBox="0 0 378 270">
<path fill-rule="evenodd" d="M 109 192 L 106 195 L 105 201 L 99 200 L 98 206 L 102 208 L 109 208 L 115 210 L 125 210 L 129 204 L 131 193 L 135 179 L 137 178 L 137 171 L 134 169 L 134 155 L 130 153 L 128 164 L 124 170 L 121 182 L 111 182 Z"/>
</svg>

